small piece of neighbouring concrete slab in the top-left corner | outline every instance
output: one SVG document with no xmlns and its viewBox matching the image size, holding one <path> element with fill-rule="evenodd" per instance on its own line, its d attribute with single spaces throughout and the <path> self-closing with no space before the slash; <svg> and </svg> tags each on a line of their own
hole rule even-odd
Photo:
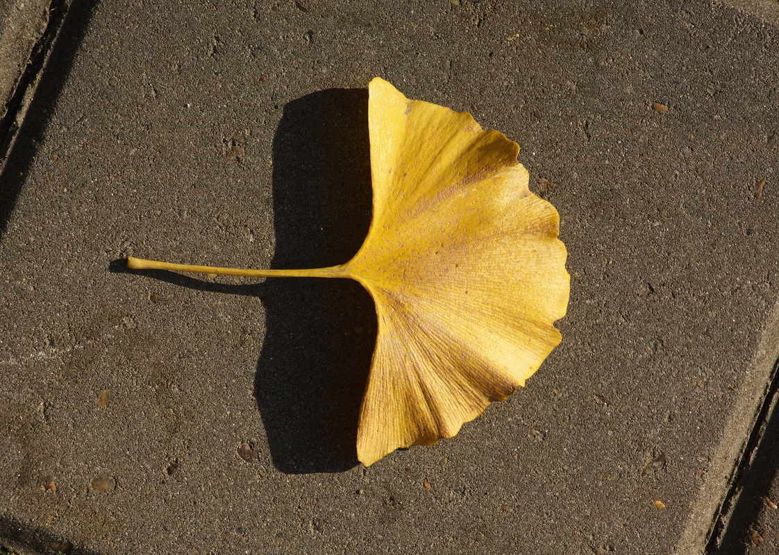
<svg viewBox="0 0 779 555">
<path fill-rule="evenodd" d="M 48 0 L 0 0 L 0 121 L 37 40 L 48 23 Z"/>
</svg>

